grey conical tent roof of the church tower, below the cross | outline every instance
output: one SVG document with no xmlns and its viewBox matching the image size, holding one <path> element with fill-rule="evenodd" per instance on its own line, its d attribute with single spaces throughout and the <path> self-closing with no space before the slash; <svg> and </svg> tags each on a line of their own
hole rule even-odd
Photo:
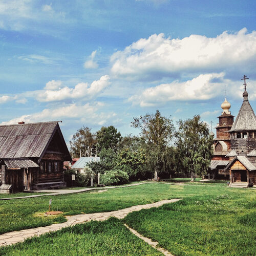
<svg viewBox="0 0 256 256">
<path fill-rule="evenodd" d="M 256 131 L 256 116 L 248 100 L 244 100 L 229 132 Z"/>
</svg>

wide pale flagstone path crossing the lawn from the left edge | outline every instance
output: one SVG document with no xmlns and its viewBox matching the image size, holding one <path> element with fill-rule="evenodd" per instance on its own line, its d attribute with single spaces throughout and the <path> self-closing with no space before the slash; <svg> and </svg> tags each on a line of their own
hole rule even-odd
<svg viewBox="0 0 256 256">
<path fill-rule="evenodd" d="M 64 222 L 64 223 L 52 224 L 46 227 L 37 227 L 37 228 L 31 228 L 31 229 L 25 229 L 25 230 L 13 231 L 13 232 L 1 234 L 0 246 L 15 244 L 18 242 L 22 242 L 27 238 L 31 238 L 34 236 L 38 237 L 40 236 L 40 234 L 44 234 L 46 232 L 56 231 L 63 227 L 73 226 L 75 224 L 83 223 L 91 220 L 104 221 L 110 217 L 123 219 L 127 214 L 129 214 L 132 211 L 138 211 L 141 209 L 148 209 L 152 207 L 159 207 L 163 204 L 173 203 L 179 200 L 181 199 L 162 200 L 152 204 L 135 205 L 129 208 L 110 211 L 110 212 L 97 212 L 95 214 L 80 214 L 80 215 L 74 215 L 74 216 L 67 216 L 67 222 Z"/>
</svg>

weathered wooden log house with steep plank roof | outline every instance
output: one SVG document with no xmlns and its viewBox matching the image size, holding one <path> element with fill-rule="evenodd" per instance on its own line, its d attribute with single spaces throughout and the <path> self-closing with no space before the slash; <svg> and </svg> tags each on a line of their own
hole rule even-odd
<svg viewBox="0 0 256 256">
<path fill-rule="evenodd" d="M 14 191 L 66 186 L 63 161 L 72 161 L 58 121 L 0 125 L 0 183 Z"/>
</svg>

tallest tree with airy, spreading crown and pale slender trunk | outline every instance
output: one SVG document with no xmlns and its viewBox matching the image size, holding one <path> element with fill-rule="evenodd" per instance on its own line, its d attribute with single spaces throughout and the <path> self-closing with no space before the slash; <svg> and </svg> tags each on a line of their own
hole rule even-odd
<svg viewBox="0 0 256 256">
<path fill-rule="evenodd" d="M 166 118 L 157 110 L 155 114 L 146 114 L 139 118 L 133 118 L 132 126 L 139 128 L 141 135 L 147 144 L 148 163 L 154 169 L 155 180 L 157 180 L 161 168 L 168 157 L 170 141 L 174 136 L 174 125 L 170 118 Z"/>
</svg>

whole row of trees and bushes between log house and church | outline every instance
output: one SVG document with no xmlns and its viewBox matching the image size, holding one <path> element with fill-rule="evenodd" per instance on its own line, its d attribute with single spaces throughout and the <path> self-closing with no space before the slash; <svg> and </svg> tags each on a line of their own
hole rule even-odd
<svg viewBox="0 0 256 256">
<path fill-rule="evenodd" d="M 139 136 L 122 137 L 110 125 L 92 133 L 80 127 L 70 140 L 74 157 L 99 156 L 100 162 L 90 167 L 99 173 L 115 168 L 123 170 L 130 180 L 140 178 L 172 177 L 174 174 L 206 174 L 212 157 L 213 137 L 200 115 L 179 120 L 175 126 L 171 116 L 155 114 L 134 117 L 131 126 L 138 128 Z"/>
</svg>

